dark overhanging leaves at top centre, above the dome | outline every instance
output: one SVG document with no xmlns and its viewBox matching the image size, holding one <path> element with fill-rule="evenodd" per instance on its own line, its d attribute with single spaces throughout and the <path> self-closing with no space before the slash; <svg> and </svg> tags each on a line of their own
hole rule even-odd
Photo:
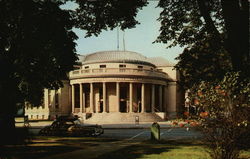
<svg viewBox="0 0 250 159">
<path fill-rule="evenodd" d="M 76 9 L 76 27 L 87 30 L 86 36 L 100 34 L 102 30 L 120 27 L 122 30 L 133 28 L 139 22 L 136 14 L 145 0 L 75 0 L 79 4 Z"/>
</svg>

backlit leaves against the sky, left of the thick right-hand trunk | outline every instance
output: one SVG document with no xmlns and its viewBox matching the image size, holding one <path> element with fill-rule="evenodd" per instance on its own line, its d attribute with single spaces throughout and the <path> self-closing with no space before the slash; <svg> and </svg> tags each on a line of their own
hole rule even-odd
<svg viewBox="0 0 250 159">
<path fill-rule="evenodd" d="M 223 21 L 219 2 L 212 0 L 206 2 L 207 13 L 211 12 L 213 15 L 210 17 L 211 24 L 206 24 L 204 21 L 200 7 L 202 2 L 197 0 L 160 1 L 158 6 L 163 8 L 159 17 L 161 33 L 156 42 L 172 42 L 169 47 L 193 45 L 197 41 L 204 40 L 208 35 L 218 32 L 212 30 L 215 26 L 219 26 L 219 31 L 222 31 Z M 216 19 L 216 21 L 212 19 Z"/>
</svg>

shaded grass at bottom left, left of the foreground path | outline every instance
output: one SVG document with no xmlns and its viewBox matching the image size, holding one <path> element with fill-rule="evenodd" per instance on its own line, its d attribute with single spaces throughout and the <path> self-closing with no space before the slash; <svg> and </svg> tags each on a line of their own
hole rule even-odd
<svg viewBox="0 0 250 159">
<path fill-rule="evenodd" d="M 32 142 L 20 145 L 0 146 L 0 159 L 37 159 L 51 155 L 83 150 L 99 143 L 115 141 L 94 137 L 45 137 L 38 136 Z"/>
</svg>

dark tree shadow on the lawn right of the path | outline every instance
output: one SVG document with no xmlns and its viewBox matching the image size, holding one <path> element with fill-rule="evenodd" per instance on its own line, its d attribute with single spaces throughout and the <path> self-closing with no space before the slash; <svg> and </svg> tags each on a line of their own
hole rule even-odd
<svg viewBox="0 0 250 159">
<path fill-rule="evenodd" d="M 193 141 L 145 141 L 140 145 L 131 145 L 117 151 L 103 154 L 96 159 L 136 159 L 143 155 L 157 155 L 183 146 L 201 146 L 199 142 Z"/>
</svg>

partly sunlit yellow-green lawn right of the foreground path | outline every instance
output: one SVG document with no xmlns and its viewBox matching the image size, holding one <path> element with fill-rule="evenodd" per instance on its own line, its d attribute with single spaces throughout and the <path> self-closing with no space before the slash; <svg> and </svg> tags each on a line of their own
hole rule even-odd
<svg viewBox="0 0 250 159">
<path fill-rule="evenodd" d="M 241 159 L 250 159 L 250 152 L 241 153 Z M 106 153 L 97 159 L 211 159 L 208 149 L 200 141 L 147 141 L 115 152 Z"/>
</svg>

